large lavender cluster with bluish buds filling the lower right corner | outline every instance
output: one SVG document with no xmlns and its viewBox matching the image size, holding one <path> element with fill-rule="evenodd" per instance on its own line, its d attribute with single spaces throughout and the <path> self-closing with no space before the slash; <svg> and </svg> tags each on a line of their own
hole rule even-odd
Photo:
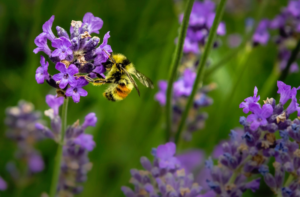
<svg viewBox="0 0 300 197">
<path fill-rule="evenodd" d="M 210 158 L 205 162 L 210 174 L 208 186 L 220 196 L 242 196 L 246 189 L 253 192 L 259 188 L 261 174 L 265 183 L 275 194 L 292 197 L 300 196 L 300 121 L 291 120 L 289 116 L 300 107 L 296 94 L 300 87 L 295 88 L 277 82 L 280 94 L 279 103 L 274 98 L 267 98 L 261 106 L 255 87 L 254 96 L 248 97 L 240 104 L 246 117 L 240 117 L 240 124 L 244 126 L 242 132 L 231 131 L 231 140 L 222 143 L 222 151 L 218 151 L 218 165 L 214 166 Z M 291 100 L 287 107 L 287 101 Z M 279 131 L 280 137 L 274 134 Z M 220 149 L 219 149 L 220 150 Z M 267 166 L 271 157 L 274 175 Z M 284 183 L 284 177 L 289 178 Z M 248 178 L 247 178 L 248 177 Z"/>
</svg>

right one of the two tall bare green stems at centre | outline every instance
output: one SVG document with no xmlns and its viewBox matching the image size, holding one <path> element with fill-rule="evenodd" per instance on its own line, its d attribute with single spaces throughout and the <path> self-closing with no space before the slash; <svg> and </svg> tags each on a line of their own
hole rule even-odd
<svg viewBox="0 0 300 197">
<path fill-rule="evenodd" d="M 191 93 L 190 97 L 188 98 L 187 105 L 184 109 L 184 113 L 182 114 L 182 118 L 181 118 L 181 121 L 179 123 L 179 127 L 178 127 L 178 130 L 176 132 L 176 135 L 175 135 L 175 143 L 178 143 L 178 140 L 180 138 L 180 134 L 182 132 L 182 129 L 183 129 L 183 126 L 184 126 L 184 123 L 185 123 L 185 119 L 187 118 L 187 114 L 190 110 L 190 107 L 193 104 L 194 96 L 195 96 L 196 91 L 198 89 L 198 85 L 200 84 L 200 86 L 202 86 L 202 80 L 203 80 L 203 76 L 204 76 L 203 69 L 204 69 L 208 54 L 211 51 L 211 47 L 212 47 L 212 44 L 213 44 L 213 41 L 214 41 L 214 37 L 216 35 L 217 27 L 219 26 L 219 23 L 220 23 L 221 18 L 223 16 L 226 1 L 227 0 L 221 0 L 220 4 L 217 7 L 217 12 L 216 12 L 216 16 L 214 18 L 214 23 L 212 24 L 212 27 L 209 31 L 208 41 L 205 45 L 205 49 L 204 49 L 204 52 L 203 52 L 202 57 L 201 57 L 200 66 L 198 67 L 197 76 L 196 76 L 196 79 L 195 79 L 195 82 L 194 82 L 194 85 L 193 85 L 193 90 L 192 90 L 192 93 Z"/>
</svg>

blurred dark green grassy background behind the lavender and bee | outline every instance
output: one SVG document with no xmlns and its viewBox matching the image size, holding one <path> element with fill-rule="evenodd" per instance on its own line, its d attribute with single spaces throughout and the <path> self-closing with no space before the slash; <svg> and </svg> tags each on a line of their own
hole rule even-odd
<svg viewBox="0 0 300 197">
<path fill-rule="evenodd" d="M 256 15 L 258 2 L 248 1 L 246 7 L 241 7 L 241 1 L 228 2 L 239 5 L 234 12 L 228 8 L 223 16 L 227 35 L 244 34 L 244 21 L 247 17 Z M 280 7 L 286 4 L 287 1 L 272 1 L 263 16 L 273 18 Z M 46 94 L 55 94 L 48 84 L 37 84 L 35 81 L 35 70 L 39 66 L 40 54 L 43 53 L 34 54 L 32 51 L 36 47 L 34 39 L 42 32 L 44 22 L 51 15 L 55 15 L 52 31 L 56 35 L 56 25 L 68 30 L 71 20 L 82 20 L 86 12 L 93 13 L 104 21 L 98 35 L 101 38 L 100 42 L 102 43 L 104 34 L 110 31 L 108 43 L 113 51 L 125 54 L 136 68 L 149 76 L 156 85 L 158 80 L 168 77 L 175 48 L 174 40 L 179 28 L 179 10 L 180 7 L 176 7 L 172 0 L 0 2 L 0 175 L 9 185 L 7 191 L 0 192 L 1 196 L 40 196 L 42 192 L 49 191 L 56 144 L 51 140 L 37 144 L 46 163 L 45 169 L 35 175 L 34 181 L 28 187 L 17 189 L 5 171 L 5 164 L 13 158 L 16 145 L 5 137 L 6 127 L 3 123 L 5 108 L 16 105 L 20 99 L 30 101 L 35 104 L 36 109 L 44 111 L 48 109 L 45 103 Z M 210 55 L 212 64 L 232 50 L 227 46 L 227 35 L 218 38 L 221 45 Z M 266 96 L 276 96 L 265 95 L 260 91 L 276 60 L 277 49 L 274 43 L 269 42 L 267 46 L 256 47 L 245 65 L 238 67 L 242 56 L 243 50 L 205 78 L 205 84 L 217 84 L 217 89 L 208 94 L 214 99 L 214 104 L 204 109 L 209 115 L 205 129 L 194 133 L 192 141 L 184 143 L 178 152 L 187 148 L 202 148 L 209 154 L 214 145 L 227 138 L 230 129 L 239 126 L 239 116 L 244 114 L 238 105 L 244 98 L 253 96 L 254 86 L 258 87 L 258 94 L 261 95 L 260 102 L 265 100 Z M 53 63 L 49 65 L 49 73 L 55 74 Z M 292 74 L 285 82 L 298 87 L 298 78 L 299 74 Z M 84 116 L 89 112 L 95 112 L 98 117 L 96 127 L 87 129 L 88 133 L 94 135 L 97 144 L 89 154 L 94 165 L 88 173 L 83 192 L 78 196 L 124 196 L 120 188 L 122 185 L 130 185 L 129 170 L 140 169 L 140 157 L 152 158 L 151 148 L 165 143 L 164 108 L 153 99 L 158 89 L 156 87 L 150 90 L 141 84 L 138 85 L 141 98 L 133 91 L 125 100 L 113 103 L 102 96 L 106 87 L 88 85 L 85 87 L 88 96 L 81 97 L 77 104 L 69 102 L 69 125 L 77 119 L 82 123 Z M 275 86 L 276 82 L 271 84 L 271 87 Z M 47 117 L 44 119 L 48 120 Z"/>
</svg>

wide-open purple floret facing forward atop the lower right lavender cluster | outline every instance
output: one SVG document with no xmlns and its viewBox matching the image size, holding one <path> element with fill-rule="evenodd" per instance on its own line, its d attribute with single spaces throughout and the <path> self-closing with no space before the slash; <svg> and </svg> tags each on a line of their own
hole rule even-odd
<svg viewBox="0 0 300 197">
<path fill-rule="evenodd" d="M 247 121 L 252 122 L 250 126 L 252 131 L 255 131 L 260 125 L 266 125 L 267 118 L 273 113 L 273 107 L 270 104 L 264 104 L 261 108 L 259 104 L 250 103 L 249 110 L 253 112 L 247 116 Z"/>
</svg>

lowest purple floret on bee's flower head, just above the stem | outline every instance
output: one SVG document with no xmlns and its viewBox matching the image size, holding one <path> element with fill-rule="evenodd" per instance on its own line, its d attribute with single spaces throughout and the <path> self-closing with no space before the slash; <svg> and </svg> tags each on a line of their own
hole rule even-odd
<svg viewBox="0 0 300 197">
<path fill-rule="evenodd" d="M 86 86 L 88 82 L 83 77 L 78 78 L 76 81 L 77 85 L 71 85 L 71 87 L 66 91 L 66 96 L 72 96 L 73 101 L 75 103 L 78 103 L 80 100 L 80 96 L 88 95 L 88 92 L 82 88 L 83 86 Z"/>
</svg>

